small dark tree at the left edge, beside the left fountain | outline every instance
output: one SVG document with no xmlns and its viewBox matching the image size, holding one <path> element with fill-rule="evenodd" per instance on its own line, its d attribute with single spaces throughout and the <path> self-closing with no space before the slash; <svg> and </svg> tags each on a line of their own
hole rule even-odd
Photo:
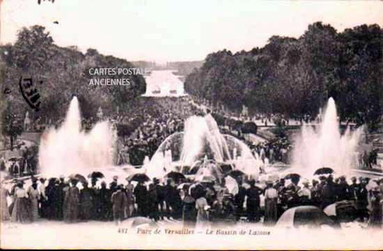
<svg viewBox="0 0 383 251">
<path fill-rule="evenodd" d="M 3 125 L 1 132 L 3 135 L 9 137 L 10 150 L 13 151 L 13 143 L 15 142 L 15 139 L 17 139 L 17 136 L 21 135 L 23 132 L 23 123 L 22 119 L 13 112 L 10 102 L 6 105 L 3 114 L 1 114 L 1 123 Z"/>
</svg>

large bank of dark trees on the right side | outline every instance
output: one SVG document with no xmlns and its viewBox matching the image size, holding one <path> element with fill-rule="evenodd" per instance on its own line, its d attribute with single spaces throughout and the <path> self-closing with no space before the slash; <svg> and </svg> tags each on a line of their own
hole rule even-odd
<svg viewBox="0 0 383 251">
<path fill-rule="evenodd" d="M 377 24 L 338 33 L 316 22 L 299 38 L 272 36 L 265 47 L 209 54 L 185 90 L 239 111 L 315 116 L 329 97 L 342 120 L 376 125 L 383 110 L 383 30 Z"/>
</svg>

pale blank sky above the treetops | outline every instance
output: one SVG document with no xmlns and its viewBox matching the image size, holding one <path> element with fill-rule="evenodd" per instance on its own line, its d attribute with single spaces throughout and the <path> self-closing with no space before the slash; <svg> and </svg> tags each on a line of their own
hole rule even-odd
<svg viewBox="0 0 383 251">
<path fill-rule="evenodd" d="M 0 1 L 2 44 L 14 43 L 23 26 L 40 24 L 56 45 L 157 63 L 203 60 L 223 49 L 251 50 L 273 35 L 298 38 L 317 21 L 338 31 L 383 26 L 383 1 Z"/>
</svg>

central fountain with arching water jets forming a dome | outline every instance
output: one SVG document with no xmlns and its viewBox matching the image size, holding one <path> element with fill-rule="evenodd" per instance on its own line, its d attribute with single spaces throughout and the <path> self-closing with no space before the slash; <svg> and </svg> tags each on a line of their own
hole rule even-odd
<svg viewBox="0 0 383 251">
<path fill-rule="evenodd" d="M 166 158 L 167 151 L 172 153 L 171 160 Z M 205 156 L 217 165 L 231 165 L 252 176 L 257 176 L 263 165 L 246 144 L 231 135 L 222 135 L 217 122 L 208 114 L 189 117 L 184 132 L 167 137 L 150 160 L 146 174 L 150 177 L 163 177 L 171 171 L 188 174 L 190 169 L 184 167 L 194 167 Z"/>
</svg>

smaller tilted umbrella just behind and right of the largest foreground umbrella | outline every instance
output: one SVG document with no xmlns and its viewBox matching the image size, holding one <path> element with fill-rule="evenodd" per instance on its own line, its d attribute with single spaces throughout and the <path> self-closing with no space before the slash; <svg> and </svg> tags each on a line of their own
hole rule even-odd
<svg viewBox="0 0 383 251">
<path fill-rule="evenodd" d="M 335 216 L 338 222 L 352 222 L 358 218 L 358 209 L 354 201 L 337 201 L 323 210 L 328 216 Z"/>
</svg>

